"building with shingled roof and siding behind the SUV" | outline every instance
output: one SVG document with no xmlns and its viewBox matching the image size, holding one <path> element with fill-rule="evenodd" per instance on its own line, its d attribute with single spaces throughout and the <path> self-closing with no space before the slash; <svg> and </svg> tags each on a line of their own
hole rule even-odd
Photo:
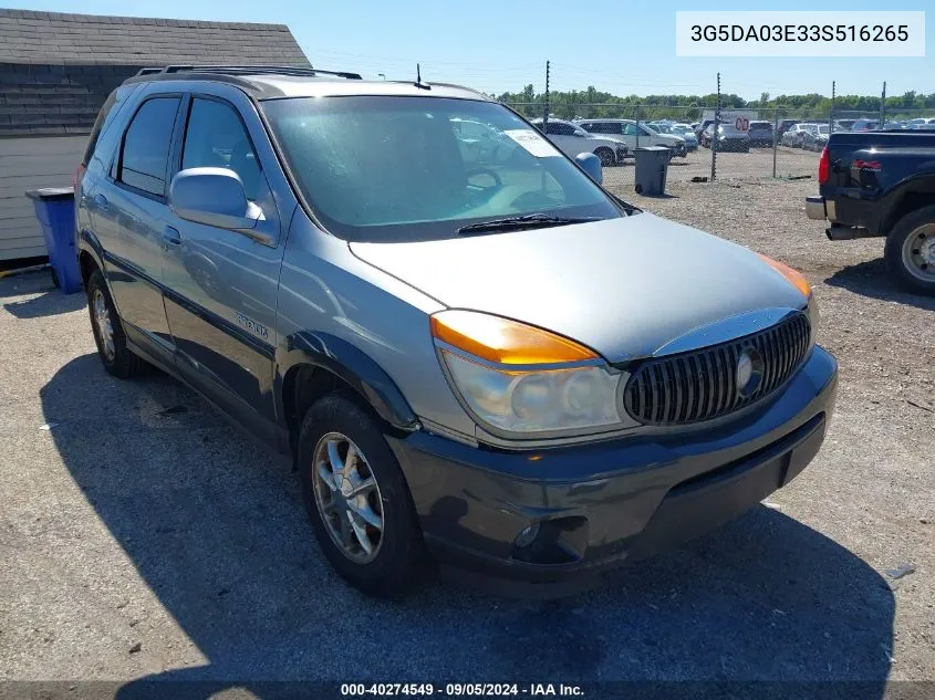
<svg viewBox="0 0 935 700">
<path fill-rule="evenodd" d="M 283 24 L 0 9 L 0 260 L 45 254 L 23 192 L 71 185 L 97 111 L 141 67 L 301 65 Z"/>
</svg>

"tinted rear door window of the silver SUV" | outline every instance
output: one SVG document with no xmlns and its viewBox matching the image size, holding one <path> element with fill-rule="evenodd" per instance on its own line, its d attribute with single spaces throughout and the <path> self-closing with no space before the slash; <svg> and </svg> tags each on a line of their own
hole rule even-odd
<svg viewBox="0 0 935 700">
<path fill-rule="evenodd" d="M 175 117 L 179 97 L 153 97 L 143 103 L 124 135 L 117 179 L 150 195 L 166 194 Z"/>
</svg>

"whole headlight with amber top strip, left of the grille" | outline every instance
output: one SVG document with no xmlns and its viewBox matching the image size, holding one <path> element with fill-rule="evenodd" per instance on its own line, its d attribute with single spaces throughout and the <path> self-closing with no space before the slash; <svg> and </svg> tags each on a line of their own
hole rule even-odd
<svg viewBox="0 0 935 700">
<path fill-rule="evenodd" d="M 471 311 L 435 314 L 432 334 L 451 387 L 482 427 L 528 436 L 623 422 L 626 375 L 573 341 Z"/>
</svg>

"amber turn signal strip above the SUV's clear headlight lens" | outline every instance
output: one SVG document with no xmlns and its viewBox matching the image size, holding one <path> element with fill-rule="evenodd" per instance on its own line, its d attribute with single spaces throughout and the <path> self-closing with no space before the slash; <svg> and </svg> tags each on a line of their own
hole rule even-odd
<svg viewBox="0 0 935 700">
<path fill-rule="evenodd" d="M 432 335 L 494 363 L 540 365 L 596 359 L 574 341 L 509 318 L 475 311 L 441 311 L 432 316 Z"/>
</svg>

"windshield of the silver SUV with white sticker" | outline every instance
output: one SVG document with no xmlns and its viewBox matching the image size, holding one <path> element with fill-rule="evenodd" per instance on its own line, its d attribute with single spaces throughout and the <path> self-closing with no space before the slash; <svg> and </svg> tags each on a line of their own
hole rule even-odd
<svg viewBox="0 0 935 700">
<path fill-rule="evenodd" d="M 261 103 L 315 215 L 354 241 L 450 238 L 530 213 L 621 210 L 540 132 L 500 104 L 346 96 Z"/>
</svg>

